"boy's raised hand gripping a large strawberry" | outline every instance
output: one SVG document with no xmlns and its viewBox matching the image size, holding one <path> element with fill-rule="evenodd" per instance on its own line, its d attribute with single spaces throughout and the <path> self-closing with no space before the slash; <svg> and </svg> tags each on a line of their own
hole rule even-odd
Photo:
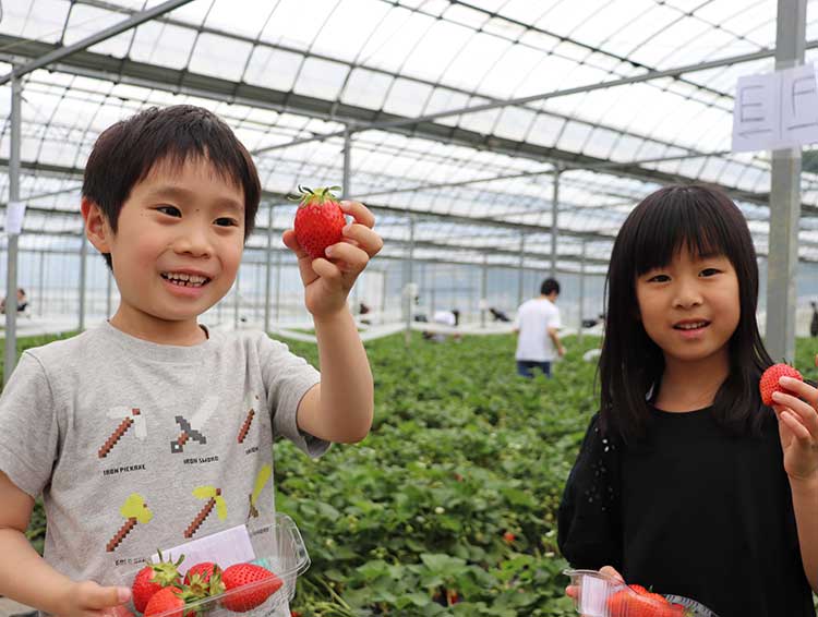
<svg viewBox="0 0 818 617">
<path fill-rule="evenodd" d="M 340 202 L 345 215 L 354 220 L 344 227 L 344 240 L 328 246 L 328 258 L 313 259 L 296 240 L 296 232 L 284 232 L 284 243 L 298 257 L 301 281 L 304 283 L 304 303 L 313 316 L 332 315 L 347 306 L 349 290 L 374 257 L 384 241 L 373 231 L 375 217 L 359 202 Z"/>
</svg>

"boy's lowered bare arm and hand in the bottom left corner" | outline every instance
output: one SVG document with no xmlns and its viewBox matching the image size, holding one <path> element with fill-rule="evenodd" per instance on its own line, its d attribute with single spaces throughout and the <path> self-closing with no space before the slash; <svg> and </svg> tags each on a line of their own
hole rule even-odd
<svg viewBox="0 0 818 617">
<path fill-rule="evenodd" d="M 0 472 L 0 595 L 61 616 L 92 615 L 130 598 L 125 588 L 77 583 L 49 566 L 25 536 L 34 499 Z"/>
</svg>

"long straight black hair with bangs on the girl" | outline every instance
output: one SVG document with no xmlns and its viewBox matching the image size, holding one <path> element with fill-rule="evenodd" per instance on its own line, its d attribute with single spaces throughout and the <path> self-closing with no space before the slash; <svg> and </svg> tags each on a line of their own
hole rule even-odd
<svg viewBox="0 0 818 617">
<path fill-rule="evenodd" d="M 608 310 L 599 362 L 600 415 L 608 430 L 631 443 L 650 422 L 646 395 L 658 388 L 664 355 L 639 319 L 636 278 L 671 263 L 684 246 L 694 254 L 726 256 L 738 278 L 741 317 L 729 340 L 730 372 L 713 401 L 713 416 L 742 434 L 760 425 L 758 379 L 772 364 L 756 323 L 758 264 L 747 221 L 722 191 L 673 185 L 648 195 L 630 213 L 614 242 L 605 280 Z"/>
</svg>

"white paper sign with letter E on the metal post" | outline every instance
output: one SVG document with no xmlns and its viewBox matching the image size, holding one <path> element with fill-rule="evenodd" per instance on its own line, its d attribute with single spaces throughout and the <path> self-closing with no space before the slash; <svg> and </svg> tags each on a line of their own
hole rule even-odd
<svg viewBox="0 0 818 617">
<path fill-rule="evenodd" d="M 818 142 L 818 87 L 813 64 L 738 78 L 733 152 L 773 150 Z"/>
</svg>

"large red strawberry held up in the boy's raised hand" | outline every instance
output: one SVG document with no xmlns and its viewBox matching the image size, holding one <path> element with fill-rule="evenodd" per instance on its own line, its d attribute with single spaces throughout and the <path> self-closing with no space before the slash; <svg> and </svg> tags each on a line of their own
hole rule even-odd
<svg viewBox="0 0 818 617">
<path fill-rule="evenodd" d="M 293 225 L 296 239 L 313 259 L 326 257 L 324 251 L 341 241 L 344 226 L 347 225 L 338 199 L 332 193 L 340 190 L 340 186 L 313 191 L 299 185 L 298 190 L 301 192 L 301 204 Z"/>
</svg>

